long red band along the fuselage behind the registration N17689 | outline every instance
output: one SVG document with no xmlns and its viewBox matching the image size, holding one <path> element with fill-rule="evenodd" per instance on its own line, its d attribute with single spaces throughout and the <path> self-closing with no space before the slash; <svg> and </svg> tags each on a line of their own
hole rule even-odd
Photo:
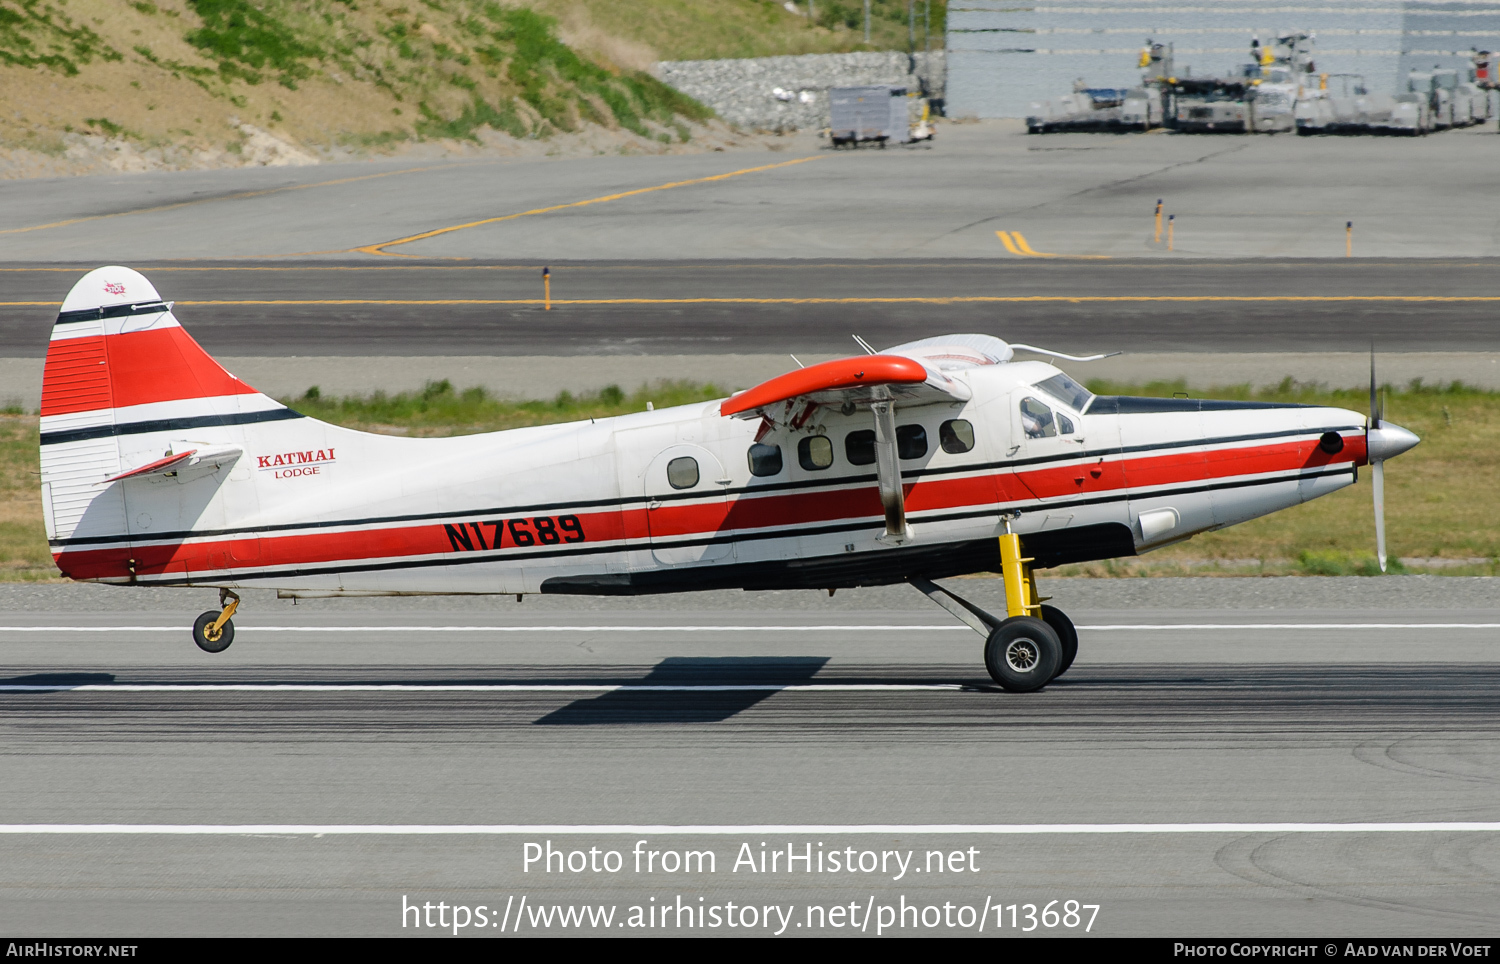
<svg viewBox="0 0 1500 964">
<path fill-rule="evenodd" d="M 1208 465 L 1215 466 L 1214 478 L 1316 469 L 1334 462 L 1347 463 L 1350 456 L 1364 457 L 1364 436 L 1360 435 L 1358 439 L 1358 445 L 1354 445 L 1356 438 L 1346 439 L 1346 450 L 1338 454 L 1324 453 L 1316 439 L 1220 448 L 1208 453 Z M 1203 451 L 1173 451 L 1106 462 L 1100 480 L 1090 475 L 1090 468 L 1098 466 L 1098 462 L 1040 466 L 1014 474 L 1002 471 L 960 478 L 927 478 L 904 486 L 906 507 L 912 513 L 986 508 L 1026 502 L 1032 498 L 1032 492 L 1056 492 L 1058 496 L 1077 495 L 1080 490 L 1095 496 L 1125 493 L 1125 480 L 1128 480 L 1130 489 L 1203 481 Z M 1080 477 L 1086 483 L 1077 483 L 1076 480 Z M 627 507 L 618 511 L 579 513 L 579 525 L 586 541 L 578 544 L 620 540 L 639 543 L 648 537 L 658 540 L 714 537 L 772 526 L 806 526 L 868 519 L 880 514 L 882 508 L 873 483 L 867 487 L 832 492 L 790 492 L 765 496 L 756 496 L 752 492 L 732 501 L 666 502 L 650 510 Z M 552 516 L 552 519 L 556 517 L 560 516 Z M 450 525 L 458 526 L 459 523 Z M 474 549 L 494 550 L 495 529 L 489 523 L 480 525 L 478 532 L 470 534 Z M 784 535 L 795 537 L 796 529 L 789 529 Z M 144 538 L 148 537 L 142 535 Z M 548 544 L 536 541 L 524 546 L 506 535 L 500 547 L 534 552 L 548 549 Z M 171 573 L 208 576 L 224 570 L 300 567 L 381 558 L 400 559 L 453 552 L 460 550 L 454 549 L 447 529 L 440 523 L 306 535 L 234 537 L 188 544 L 140 546 L 136 549 L 63 550 L 54 553 L 54 558 L 58 568 L 74 579 L 100 579 L 126 576 L 126 564 L 132 556 L 135 558 L 135 571 L 140 576 Z M 484 559 L 502 561 L 504 556 L 484 556 Z"/>
</svg>

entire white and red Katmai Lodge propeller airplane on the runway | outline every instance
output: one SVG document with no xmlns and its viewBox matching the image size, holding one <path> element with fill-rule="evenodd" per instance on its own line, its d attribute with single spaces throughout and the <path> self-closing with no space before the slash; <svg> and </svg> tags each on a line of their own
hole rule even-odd
<svg viewBox="0 0 1500 964">
<path fill-rule="evenodd" d="M 1026 348 L 1026 346 L 1016 346 Z M 1058 357 L 1058 352 L 1046 352 Z M 1371 382 L 1372 384 L 1372 382 Z M 460 438 L 308 418 L 225 372 L 140 273 L 68 294 L 42 387 L 58 570 L 282 595 L 646 594 L 909 582 L 1005 690 L 1077 652 L 1032 568 L 1134 556 L 1352 484 L 1418 444 L 1340 408 L 1095 396 L 987 334 L 792 370 L 717 402 Z M 1006 616 L 932 580 L 999 570 Z"/>
</svg>

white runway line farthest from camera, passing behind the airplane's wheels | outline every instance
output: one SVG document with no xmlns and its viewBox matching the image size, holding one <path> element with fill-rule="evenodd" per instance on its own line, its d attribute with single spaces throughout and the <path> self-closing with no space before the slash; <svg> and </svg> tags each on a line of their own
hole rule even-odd
<svg viewBox="0 0 1500 964">
<path fill-rule="evenodd" d="M 1094 633 L 1173 630 L 1500 630 L 1500 622 L 1162 622 L 1080 625 Z M 192 627 L 0 627 L 0 633 L 189 633 Z M 966 625 L 792 625 L 792 627 L 274 627 L 236 625 L 238 633 L 972 633 Z"/>
</svg>

